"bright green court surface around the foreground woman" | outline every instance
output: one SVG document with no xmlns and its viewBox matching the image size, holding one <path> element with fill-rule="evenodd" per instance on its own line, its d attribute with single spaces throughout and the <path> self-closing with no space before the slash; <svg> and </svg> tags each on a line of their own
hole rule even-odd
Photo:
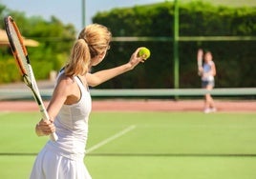
<svg viewBox="0 0 256 179">
<path fill-rule="evenodd" d="M 0 178 L 29 178 L 48 140 L 37 112 L 0 112 Z M 85 164 L 95 179 L 255 179 L 256 112 L 93 112 Z"/>
</svg>

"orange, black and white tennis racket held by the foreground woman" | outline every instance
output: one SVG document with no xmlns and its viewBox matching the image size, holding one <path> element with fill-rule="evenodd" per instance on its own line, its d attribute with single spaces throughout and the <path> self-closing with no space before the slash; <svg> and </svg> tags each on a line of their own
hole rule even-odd
<svg viewBox="0 0 256 179">
<path fill-rule="evenodd" d="M 23 77 L 23 80 L 25 84 L 32 90 L 34 100 L 37 103 L 38 108 L 40 109 L 42 118 L 44 120 L 50 120 L 32 72 L 32 66 L 28 56 L 28 51 L 24 46 L 23 38 L 18 30 L 18 27 L 16 26 L 11 16 L 5 17 L 5 27 L 11 45 L 12 54 L 15 58 L 17 67 Z M 51 140 L 56 141 L 57 135 L 55 133 L 52 133 L 50 135 L 50 138 Z"/>
</svg>

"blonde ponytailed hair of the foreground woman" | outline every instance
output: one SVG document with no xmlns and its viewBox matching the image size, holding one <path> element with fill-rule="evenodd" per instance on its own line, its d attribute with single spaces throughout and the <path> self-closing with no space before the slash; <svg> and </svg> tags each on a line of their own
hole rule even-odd
<svg viewBox="0 0 256 179">
<path fill-rule="evenodd" d="M 65 74 L 76 76 L 87 73 L 91 59 L 108 50 L 111 38 L 111 32 L 99 24 L 92 24 L 81 30 L 71 50 Z"/>
</svg>

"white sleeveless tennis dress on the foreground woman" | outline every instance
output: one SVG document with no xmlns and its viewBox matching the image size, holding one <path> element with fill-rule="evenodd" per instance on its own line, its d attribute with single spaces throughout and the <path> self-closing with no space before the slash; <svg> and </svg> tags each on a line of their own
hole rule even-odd
<svg viewBox="0 0 256 179">
<path fill-rule="evenodd" d="M 92 99 L 78 77 L 75 82 L 81 99 L 74 105 L 64 105 L 54 125 L 58 140 L 49 141 L 37 155 L 31 179 L 91 179 L 84 165 L 88 120 Z"/>
</svg>

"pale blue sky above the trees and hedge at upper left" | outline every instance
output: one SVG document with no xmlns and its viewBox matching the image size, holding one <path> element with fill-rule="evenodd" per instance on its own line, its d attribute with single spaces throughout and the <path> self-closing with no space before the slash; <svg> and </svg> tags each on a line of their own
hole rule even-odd
<svg viewBox="0 0 256 179">
<path fill-rule="evenodd" d="M 86 25 L 92 23 L 97 11 L 114 8 L 134 7 L 165 2 L 166 0 L 85 0 Z M 60 19 L 64 24 L 72 23 L 76 30 L 82 29 L 82 0 L 0 0 L 10 10 L 18 10 L 27 16 L 39 15 L 49 20 L 51 16 Z M 14 17 L 13 17 L 14 18 Z"/>
</svg>

